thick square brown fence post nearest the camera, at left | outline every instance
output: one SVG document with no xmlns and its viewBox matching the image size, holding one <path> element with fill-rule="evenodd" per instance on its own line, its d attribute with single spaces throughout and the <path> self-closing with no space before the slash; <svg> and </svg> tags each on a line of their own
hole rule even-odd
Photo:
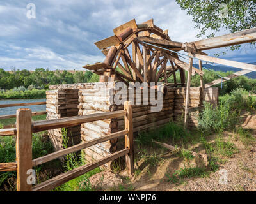
<svg viewBox="0 0 256 204">
<path fill-rule="evenodd" d="M 32 126 L 31 110 L 20 108 L 17 114 L 17 191 L 32 191 L 32 184 L 28 184 L 28 170 L 32 169 Z"/>
</svg>

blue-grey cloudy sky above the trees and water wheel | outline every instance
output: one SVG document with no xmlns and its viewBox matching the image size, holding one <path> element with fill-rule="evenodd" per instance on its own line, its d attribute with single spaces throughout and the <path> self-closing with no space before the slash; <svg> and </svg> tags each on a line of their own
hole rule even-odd
<svg viewBox="0 0 256 204">
<path fill-rule="evenodd" d="M 27 17 L 29 3 L 36 6 L 35 18 Z M 158 27 L 169 29 L 173 41 L 197 40 L 192 18 L 174 0 L 0 0 L 0 68 L 83 70 L 104 59 L 95 41 L 133 18 L 138 24 L 154 18 Z M 246 46 L 222 57 L 255 62 L 255 54 Z"/>
</svg>

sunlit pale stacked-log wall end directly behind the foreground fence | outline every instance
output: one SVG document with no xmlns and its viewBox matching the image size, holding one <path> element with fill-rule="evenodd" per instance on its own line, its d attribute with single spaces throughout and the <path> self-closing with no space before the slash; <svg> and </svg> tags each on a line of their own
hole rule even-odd
<svg viewBox="0 0 256 204">
<path fill-rule="evenodd" d="M 103 113 L 118 110 L 118 106 L 113 105 L 110 101 L 111 91 L 114 88 L 113 83 L 99 82 L 95 84 L 84 84 L 79 90 L 79 115 L 88 115 L 93 113 Z M 99 120 L 81 124 L 81 140 L 88 142 L 95 138 L 109 135 L 118 131 L 118 122 L 116 119 Z M 93 145 L 83 149 L 85 159 L 88 162 L 93 162 L 103 157 L 109 156 L 117 150 L 118 138 L 107 142 Z M 113 162 L 107 163 L 104 166 L 111 168 Z"/>
</svg>

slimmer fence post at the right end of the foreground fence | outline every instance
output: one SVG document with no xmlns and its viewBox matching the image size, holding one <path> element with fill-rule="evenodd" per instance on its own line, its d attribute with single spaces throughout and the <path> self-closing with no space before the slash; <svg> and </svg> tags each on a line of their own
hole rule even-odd
<svg viewBox="0 0 256 204">
<path fill-rule="evenodd" d="M 129 149 L 129 153 L 125 156 L 126 167 L 129 173 L 134 173 L 134 156 L 133 156 L 133 125 L 132 125 L 132 105 L 131 101 L 124 102 L 124 110 L 126 115 L 124 117 L 124 126 L 128 130 L 128 134 L 125 135 L 125 148 Z"/>
</svg>

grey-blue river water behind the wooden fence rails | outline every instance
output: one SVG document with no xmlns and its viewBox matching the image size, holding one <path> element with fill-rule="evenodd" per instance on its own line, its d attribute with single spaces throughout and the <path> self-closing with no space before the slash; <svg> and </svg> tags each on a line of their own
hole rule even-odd
<svg viewBox="0 0 256 204">
<path fill-rule="evenodd" d="M 46 99 L 10 99 L 10 100 L 0 100 L 0 104 L 11 104 L 11 103 L 31 103 L 31 102 L 42 102 Z M 32 112 L 45 111 L 46 105 L 34 105 L 34 106 L 17 106 L 0 108 L 0 115 L 13 115 L 16 114 L 18 108 L 30 108 Z"/>
</svg>

